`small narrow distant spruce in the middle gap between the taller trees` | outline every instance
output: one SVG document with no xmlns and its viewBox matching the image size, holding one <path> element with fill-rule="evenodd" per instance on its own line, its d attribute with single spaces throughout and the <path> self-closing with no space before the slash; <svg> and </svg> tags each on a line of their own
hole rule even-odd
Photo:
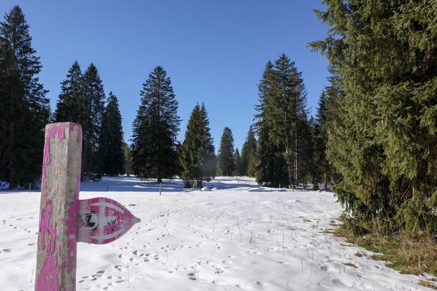
<svg viewBox="0 0 437 291">
<path fill-rule="evenodd" d="M 217 166 L 219 175 L 230 176 L 235 170 L 234 137 L 229 127 L 223 130 L 218 148 Z"/>
</svg>

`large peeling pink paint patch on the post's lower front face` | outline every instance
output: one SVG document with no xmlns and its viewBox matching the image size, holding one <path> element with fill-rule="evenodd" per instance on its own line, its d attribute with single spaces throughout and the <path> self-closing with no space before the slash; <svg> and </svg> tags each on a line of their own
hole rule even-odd
<svg viewBox="0 0 437 291">
<path fill-rule="evenodd" d="M 41 219 L 39 221 L 40 246 L 44 249 L 47 246 L 45 255 L 45 264 L 36 278 L 36 290 L 55 290 L 58 288 L 59 270 L 56 268 L 57 257 L 55 253 L 56 223 L 50 224 L 50 215 L 52 213 L 52 201 L 45 202 L 45 209 L 41 210 Z M 49 236 L 47 245 L 44 236 Z M 60 246 L 58 246 L 60 252 Z"/>
</svg>

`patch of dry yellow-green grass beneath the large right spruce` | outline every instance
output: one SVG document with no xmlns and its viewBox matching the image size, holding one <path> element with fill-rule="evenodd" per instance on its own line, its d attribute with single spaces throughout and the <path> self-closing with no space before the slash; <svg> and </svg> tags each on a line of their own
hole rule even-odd
<svg viewBox="0 0 437 291">
<path fill-rule="evenodd" d="M 437 276 L 437 240 L 427 233 L 387 231 L 375 219 L 373 227 L 353 225 L 347 219 L 336 231 L 336 236 L 346 238 L 347 243 L 354 243 L 371 252 L 374 260 L 384 260 L 386 266 L 399 270 L 401 274 L 419 275 L 427 272 Z M 363 235 L 365 237 L 363 237 Z"/>
</svg>

